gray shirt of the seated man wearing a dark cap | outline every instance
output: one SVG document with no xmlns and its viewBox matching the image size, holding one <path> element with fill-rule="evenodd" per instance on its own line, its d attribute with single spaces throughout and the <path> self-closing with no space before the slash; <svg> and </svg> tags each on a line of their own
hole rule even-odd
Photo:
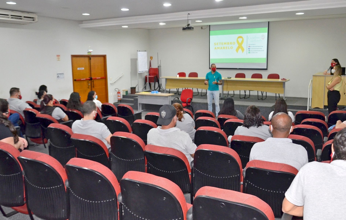
<svg viewBox="0 0 346 220">
<path fill-rule="evenodd" d="M 190 135 L 177 127 L 161 129 L 161 126 L 158 126 L 150 129 L 147 135 L 147 143 L 179 150 L 188 158 L 189 164 L 193 160 L 191 154 L 194 154 L 197 148 Z"/>
</svg>

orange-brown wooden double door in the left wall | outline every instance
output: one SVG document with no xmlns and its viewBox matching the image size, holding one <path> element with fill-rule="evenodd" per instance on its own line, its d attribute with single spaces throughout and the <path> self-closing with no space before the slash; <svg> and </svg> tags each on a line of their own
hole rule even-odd
<svg viewBox="0 0 346 220">
<path fill-rule="evenodd" d="M 71 55 L 73 91 L 85 102 L 95 91 L 101 103 L 108 102 L 106 55 Z"/>
</svg>

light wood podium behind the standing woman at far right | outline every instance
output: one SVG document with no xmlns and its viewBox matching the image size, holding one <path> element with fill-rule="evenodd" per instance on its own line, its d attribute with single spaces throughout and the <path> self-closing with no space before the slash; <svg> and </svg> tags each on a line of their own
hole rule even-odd
<svg viewBox="0 0 346 220">
<path fill-rule="evenodd" d="M 343 79 L 343 85 L 340 89 L 341 98 L 338 105 L 346 105 L 346 96 L 345 93 L 345 76 L 341 76 Z M 333 78 L 331 75 L 324 75 L 319 72 L 312 75 L 312 96 L 311 96 L 311 108 L 324 108 L 325 105 L 328 105 L 327 93 L 328 89 L 326 86 L 328 82 Z"/>
</svg>

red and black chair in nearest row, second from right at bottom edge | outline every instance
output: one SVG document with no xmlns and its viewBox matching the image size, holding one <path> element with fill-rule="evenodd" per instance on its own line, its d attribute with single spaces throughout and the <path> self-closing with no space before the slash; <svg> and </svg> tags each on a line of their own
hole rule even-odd
<svg viewBox="0 0 346 220">
<path fill-rule="evenodd" d="M 176 184 L 152 174 L 128 171 L 120 181 L 120 189 L 124 220 L 186 220 L 192 207 Z"/>
</svg>

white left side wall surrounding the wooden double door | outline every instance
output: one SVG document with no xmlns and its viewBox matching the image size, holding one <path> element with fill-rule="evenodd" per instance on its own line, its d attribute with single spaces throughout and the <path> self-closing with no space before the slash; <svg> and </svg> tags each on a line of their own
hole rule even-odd
<svg viewBox="0 0 346 220">
<path fill-rule="evenodd" d="M 137 58 L 137 50 L 148 50 L 149 31 L 95 30 L 78 24 L 47 17 L 29 25 L 0 23 L 0 97 L 8 98 L 10 88 L 19 87 L 23 100 L 33 100 L 44 84 L 56 99 L 68 99 L 73 92 L 71 55 L 86 54 L 89 46 L 93 55 L 107 55 L 108 83 L 124 73 L 108 84 L 109 102 L 116 101 L 115 88 L 130 89 L 130 61 Z M 58 72 L 64 72 L 65 79 L 56 79 Z"/>
</svg>

